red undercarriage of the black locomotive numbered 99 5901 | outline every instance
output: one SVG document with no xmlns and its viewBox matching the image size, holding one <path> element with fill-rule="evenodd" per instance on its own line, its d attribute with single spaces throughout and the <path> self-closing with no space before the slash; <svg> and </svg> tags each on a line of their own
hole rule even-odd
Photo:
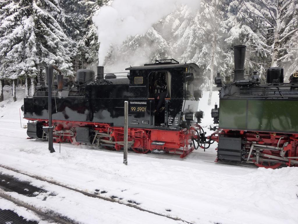
<svg viewBox="0 0 298 224">
<path fill-rule="evenodd" d="M 28 119 L 41 122 L 43 126 L 48 126 L 48 120 Z M 77 127 L 90 127 L 93 133 L 90 137 L 90 144 L 104 146 L 111 150 L 121 150 L 124 145 L 124 128 L 113 127 L 109 124 L 93 122 L 75 122 L 53 120 L 54 142 L 71 142 L 80 144 L 76 141 Z M 128 146 L 136 153 L 170 153 L 186 157 L 194 150 L 192 139 L 197 138 L 195 128 L 189 130 L 184 128 L 181 131 L 166 131 L 145 128 L 128 128 Z M 46 136 L 43 136 L 46 139 Z"/>
</svg>

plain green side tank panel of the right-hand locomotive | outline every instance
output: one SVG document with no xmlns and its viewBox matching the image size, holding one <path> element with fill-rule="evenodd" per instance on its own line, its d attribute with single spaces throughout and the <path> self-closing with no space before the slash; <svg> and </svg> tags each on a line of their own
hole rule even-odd
<svg viewBox="0 0 298 224">
<path fill-rule="evenodd" d="M 297 100 L 220 99 L 219 128 L 297 133 L 297 112 Z"/>
</svg>

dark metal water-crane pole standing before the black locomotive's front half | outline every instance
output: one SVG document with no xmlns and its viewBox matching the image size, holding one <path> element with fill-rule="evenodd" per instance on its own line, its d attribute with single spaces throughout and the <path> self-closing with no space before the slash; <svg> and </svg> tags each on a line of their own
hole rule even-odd
<svg viewBox="0 0 298 224">
<path fill-rule="evenodd" d="M 52 65 L 49 65 L 47 68 L 48 70 L 48 87 L 49 87 L 49 129 L 48 129 L 48 136 L 49 136 L 49 151 L 51 153 L 55 152 L 55 149 L 53 147 L 53 125 L 52 125 L 52 77 L 54 76 L 54 70 L 52 68 Z"/>
</svg>

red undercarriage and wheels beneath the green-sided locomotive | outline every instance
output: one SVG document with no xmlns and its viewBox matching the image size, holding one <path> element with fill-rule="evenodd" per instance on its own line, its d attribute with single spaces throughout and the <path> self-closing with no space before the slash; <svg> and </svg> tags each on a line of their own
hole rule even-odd
<svg viewBox="0 0 298 224">
<path fill-rule="evenodd" d="M 211 135 L 216 142 L 219 142 L 220 137 L 241 138 L 242 162 L 265 168 L 298 166 L 298 134 L 220 129 Z"/>
</svg>

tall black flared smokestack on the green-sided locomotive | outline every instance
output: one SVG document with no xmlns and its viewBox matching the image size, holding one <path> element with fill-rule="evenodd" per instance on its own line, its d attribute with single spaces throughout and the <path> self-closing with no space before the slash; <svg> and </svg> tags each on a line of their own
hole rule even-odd
<svg viewBox="0 0 298 224">
<path fill-rule="evenodd" d="M 244 79 L 244 62 L 245 62 L 245 52 L 246 46 L 245 45 L 237 45 L 234 46 L 234 80 Z"/>
</svg>

